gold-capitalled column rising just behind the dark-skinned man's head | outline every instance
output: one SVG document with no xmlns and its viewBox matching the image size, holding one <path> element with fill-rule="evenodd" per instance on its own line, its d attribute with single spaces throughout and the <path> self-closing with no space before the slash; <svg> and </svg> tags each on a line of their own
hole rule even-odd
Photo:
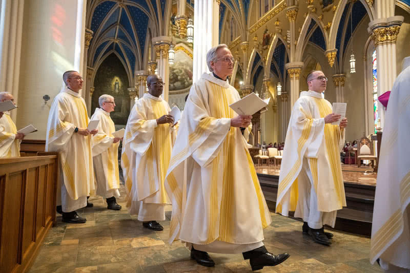
<svg viewBox="0 0 410 273">
<path fill-rule="evenodd" d="M 152 39 L 154 43 L 158 75 L 165 82 L 163 86 L 162 98 L 168 101 L 169 94 L 169 77 L 170 77 L 170 65 L 168 64 L 168 50 L 170 49 L 171 38 L 166 36 L 159 36 Z"/>
</svg>

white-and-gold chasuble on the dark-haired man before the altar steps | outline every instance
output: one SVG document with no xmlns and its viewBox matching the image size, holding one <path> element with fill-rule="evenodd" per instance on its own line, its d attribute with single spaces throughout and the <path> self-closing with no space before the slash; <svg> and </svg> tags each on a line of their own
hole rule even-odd
<svg viewBox="0 0 410 273">
<path fill-rule="evenodd" d="M 303 158 L 312 172 L 318 211 L 333 212 L 346 206 L 340 163 L 344 129 L 324 123 L 324 117 L 331 113 L 331 103 L 315 91 L 301 92 L 295 102 L 280 165 L 277 213 L 288 216 L 296 209 Z"/>
</svg>

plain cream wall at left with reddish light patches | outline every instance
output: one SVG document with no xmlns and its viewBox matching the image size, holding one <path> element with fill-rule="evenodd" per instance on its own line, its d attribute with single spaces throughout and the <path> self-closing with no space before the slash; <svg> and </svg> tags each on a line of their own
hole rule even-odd
<svg viewBox="0 0 410 273">
<path fill-rule="evenodd" d="M 74 69 L 77 5 L 73 2 L 25 2 L 16 126 L 33 124 L 38 131 L 30 139 L 46 139 L 47 119 L 63 86 L 62 75 Z M 50 97 L 47 103 L 44 95 Z"/>
</svg>

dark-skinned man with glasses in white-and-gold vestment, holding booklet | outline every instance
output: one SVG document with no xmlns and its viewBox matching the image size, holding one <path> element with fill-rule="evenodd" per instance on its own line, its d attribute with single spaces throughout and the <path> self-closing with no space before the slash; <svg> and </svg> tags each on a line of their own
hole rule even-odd
<svg viewBox="0 0 410 273">
<path fill-rule="evenodd" d="M 147 78 L 148 93 L 135 102 L 122 142 L 121 166 L 127 190 L 127 207 L 142 225 L 162 230 L 169 198 L 164 181 L 174 134 L 168 102 L 161 98 L 163 81 L 158 75 Z"/>
</svg>

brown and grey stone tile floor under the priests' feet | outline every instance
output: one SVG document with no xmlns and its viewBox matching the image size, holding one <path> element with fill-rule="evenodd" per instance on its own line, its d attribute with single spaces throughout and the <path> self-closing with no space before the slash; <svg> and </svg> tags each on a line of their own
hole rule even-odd
<svg viewBox="0 0 410 273">
<path fill-rule="evenodd" d="M 162 232 L 153 232 L 130 216 L 121 186 L 121 211 L 110 211 L 101 197 L 91 197 L 92 208 L 78 214 L 85 224 L 66 224 L 57 217 L 29 272 L 252 272 L 242 255 L 210 254 L 216 266 L 198 265 L 179 241 L 168 244 L 171 206 Z M 264 230 L 264 244 L 274 254 L 287 251 L 291 257 L 258 272 L 379 272 L 369 263 L 370 239 L 337 232 L 330 247 L 316 244 L 302 235 L 302 222 L 272 213 L 273 223 Z"/>
</svg>

